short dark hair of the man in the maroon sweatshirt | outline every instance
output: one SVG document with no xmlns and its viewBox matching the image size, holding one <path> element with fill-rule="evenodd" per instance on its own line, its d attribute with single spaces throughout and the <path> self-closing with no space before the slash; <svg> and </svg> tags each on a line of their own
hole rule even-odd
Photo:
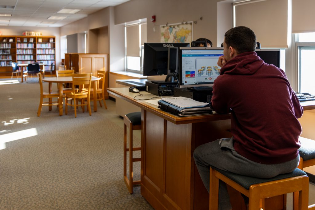
<svg viewBox="0 0 315 210">
<path fill-rule="evenodd" d="M 256 35 L 254 31 L 245 26 L 231 28 L 224 34 L 227 47 L 235 48 L 238 54 L 255 52 Z"/>
</svg>

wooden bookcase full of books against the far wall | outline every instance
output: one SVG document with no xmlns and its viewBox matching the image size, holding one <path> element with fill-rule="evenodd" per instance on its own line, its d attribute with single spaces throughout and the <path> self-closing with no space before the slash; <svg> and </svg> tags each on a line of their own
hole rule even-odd
<svg viewBox="0 0 315 210">
<path fill-rule="evenodd" d="M 11 76 L 11 62 L 38 62 L 44 63 L 46 70 L 55 69 L 55 37 L 0 36 L 0 56 L 0 77 Z"/>
</svg>

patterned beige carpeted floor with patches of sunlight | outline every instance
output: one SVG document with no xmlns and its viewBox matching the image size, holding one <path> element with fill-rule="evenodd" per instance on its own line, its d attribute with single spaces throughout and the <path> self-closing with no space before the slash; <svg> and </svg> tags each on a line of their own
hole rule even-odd
<svg viewBox="0 0 315 210">
<path fill-rule="evenodd" d="M 75 118 L 73 108 L 59 116 L 54 106 L 37 117 L 38 80 L 8 80 L 0 80 L 0 209 L 153 209 L 123 181 L 123 120 L 113 101 L 92 116 Z"/>
</svg>

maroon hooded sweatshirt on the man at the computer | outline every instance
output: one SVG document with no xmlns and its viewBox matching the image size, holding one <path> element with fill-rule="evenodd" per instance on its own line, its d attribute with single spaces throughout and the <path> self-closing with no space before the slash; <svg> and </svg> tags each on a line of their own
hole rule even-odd
<svg viewBox="0 0 315 210">
<path fill-rule="evenodd" d="M 212 93 L 214 111 L 231 112 L 234 148 L 240 155 L 263 164 L 298 155 L 302 128 L 297 118 L 303 108 L 283 70 L 245 52 L 221 68 Z"/>
</svg>

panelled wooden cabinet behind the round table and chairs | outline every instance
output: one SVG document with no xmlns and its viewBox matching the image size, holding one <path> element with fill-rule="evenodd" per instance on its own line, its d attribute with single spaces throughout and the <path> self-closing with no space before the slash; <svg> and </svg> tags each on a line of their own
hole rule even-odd
<svg viewBox="0 0 315 210">
<path fill-rule="evenodd" d="M 97 76 L 97 71 L 105 71 L 105 88 L 108 88 L 108 54 L 94 53 L 66 53 L 65 66 L 66 69 L 73 69 L 75 73 L 86 74 L 92 73 Z M 108 98 L 108 93 L 105 92 Z"/>
</svg>

